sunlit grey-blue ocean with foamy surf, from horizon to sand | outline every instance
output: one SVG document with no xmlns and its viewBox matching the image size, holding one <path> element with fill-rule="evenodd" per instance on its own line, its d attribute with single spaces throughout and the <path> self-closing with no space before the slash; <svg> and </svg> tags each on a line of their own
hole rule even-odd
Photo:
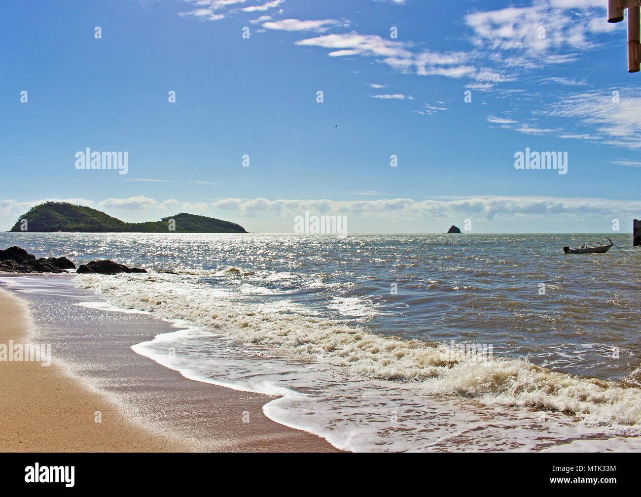
<svg viewBox="0 0 641 497">
<path fill-rule="evenodd" d="M 2 233 L 0 245 L 146 268 L 50 281 L 81 306 L 170 320 L 176 331 L 133 350 L 278 395 L 266 416 L 340 449 L 639 450 L 641 251 L 607 236 L 621 249 L 563 254 L 596 234 Z"/>
</svg>

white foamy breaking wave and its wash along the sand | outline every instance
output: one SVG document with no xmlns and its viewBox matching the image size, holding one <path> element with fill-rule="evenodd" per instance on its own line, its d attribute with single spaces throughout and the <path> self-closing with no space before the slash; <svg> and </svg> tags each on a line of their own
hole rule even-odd
<svg viewBox="0 0 641 497">
<path fill-rule="evenodd" d="M 460 429 L 467 427 L 464 428 L 467 431 L 469 425 L 466 423 L 472 423 L 478 418 L 477 411 L 485 412 L 483 409 L 499 409 L 492 412 L 500 412 L 508 418 L 506 422 L 519 427 L 520 431 L 513 433 L 519 432 L 522 440 L 514 441 L 514 450 L 524 446 L 531 448 L 540 437 L 536 427 L 531 426 L 538 414 L 524 417 L 524 412 L 531 412 L 531 409 L 557 413 L 554 414 L 558 416 L 554 420 L 554 430 L 547 423 L 544 431 L 557 433 L 559 437 L 585 436 L 603 430 L 633 435 L 641 424 L 641 389 L 626 388 L 615 382 L 551 371 L 524 360 L 469 359 L 456 349 L 450 350 L 447 344 L 381 336 L 326 318 L 279 312 L 278 307 L 270 309 L 244 302 L 238 298 L 241 294 L 231 289 L 183 281 L 179 275 L 82 275 L 78 276 L 78 282 L 100 291 L 115 306 L 149 311 L 165 319 L 185 320 L 199 330 L 197 333 L 192 330 L 187 336 L 176 334 L 170 338 L 165 335 L 162 341 L 180 339 L 184 342 L 188 338 L 187 341 L 193 343 L 207 344 L 204 348 L 199 345 L 197 348 L 202 350 L 192 353 L 178 365 L 159 359 L 167 352 L 155 350 L 158 343 L 136 346 L 135 350 L 140 354 L 153 357 L 191 379 L 271 395 L 287 393 L 282 399 L 267 404 L 265 413 L 283 424 L 328 437 L 341 448 L 376 448 L 383 437 L 394 441 L 389 447 L 383 445 L 389 450 L 433 450 L 445 441 L 428 437 L 428 443 L 423 443 L 422 436 L 410 436 L 408 432 L 417 434 L 424 430 L 425 423 L 429 425 L 430 416 L 435 413 L 447 418 L 454 416 L 453 412 L 456 412 L 454 425 Z M 219 357 L 218 362 L 204 361 L 204 356 L 219 353 L 220 343 L 214 338 L 227 340 L 228 348 L 236 341 L 249 344 L 250 348 L 242 350 L 236 345 L 235 354 Z M 270 356 L 269 361 L 266 353 Z M 301 373 L 304 368 L 301 370 L 300 364 L 313 364 L 313 379 Z M 303 377 L 304 381 L 301 380 Z M 294 391 L 296 395 L 292 393 Z M 320 404 L 319 392 L 324 399 Z M 358 405 L 337 400 L 353 398 L 356 392 L 360 398 L 370 396 L 371 400 Z M 310 396 L 310 393 L 314 395 Z M 383 430 L 385 434 L 376 428 L 376 436 L 371 433 L 365 436 L 363 430 L 373 430 L 375 420 L 392 415 L 389 401 L 394 396 L 406 400 L 399 416 L 412 416 L 412 420 L 406 421 L 411 428 L 388 427 Z M 435 402 L 435 398 L 440 400 Z M 312 400 L 313 408 L 310 407 Z M 381 409 L 381 402 L 387 407 Z M 463 402 L 467 411 L 461 405 L 454 408 L 452 402 Z M 408 414 L 407 405 L 417 406 L 418 411 L 410 409 L 412 412 Z M 472 409 L 471 405 L 477 407 Z M 478 407 L 483 405 L 485 408 Z M 523 411 L 523 408 L 527 410 Z M 305 409 L 317 413 L 313 421 L 301 414 Z M 369 413 L 365 416 L 369 418 L 367 429 L 354 428 L 353 420 L 359 418 L 358 412 Z M 494 421 L 498 423 L 496 419 Z M 485 427 L 481 431 L 488 434 L 493 430 L 495 428 Z M 357 432 L 359 436 L 354 438 Z M 531 436 L 526 436 L 525 432 Z M 447 443 L 454 443 L 456 437 L 458 435 L 453 435 Z M 500 443 L 497 441 L 497 444 Z M 492 443 L 488 444 L 488 450 L 492 446 Z"/>
</svg>

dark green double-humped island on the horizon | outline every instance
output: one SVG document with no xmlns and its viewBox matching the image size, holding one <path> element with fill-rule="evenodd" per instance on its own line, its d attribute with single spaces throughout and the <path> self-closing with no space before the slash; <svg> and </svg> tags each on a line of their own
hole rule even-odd
<svg viewBox="0 0 641 497">
<path fill-rule="evenodd" d="M 10 231 L 82 233 L 246 233 L 239 224 L 207 216 L 179 213 L 160 221 L 127 223 L 90 207 L 46 202 L 29 209 Z"/>
</svg>

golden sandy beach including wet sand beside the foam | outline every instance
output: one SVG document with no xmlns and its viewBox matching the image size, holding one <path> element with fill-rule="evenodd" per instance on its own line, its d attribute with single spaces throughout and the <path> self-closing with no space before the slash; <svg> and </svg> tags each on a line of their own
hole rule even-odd
<svg viewBox="0 0 641 497">
<path fill-rule="evenodd" d="M 0 361 L 0 451 L 341 452 L 325 439 L 265 417 L 269 396 L 188 380 L 133 352 L 131 331 L 139 342 L 145 339 L 140 335 L 176 330 L 150 316 L 103 315 L 97 334 L 105 338 L 90 348 L 104 364 L 88 368 L 89 378 L 78 375 L 55 350 L 64 345 L 72 356 L 81 355 L 83 344 L 73 332 L 86 336 L 87 328 L 63 322 L 56 327 L 54 319 L 43 322 L 30 309 L 51 300 L 21 298 L 0 286 L 0 344 L 53 341 L 54 358 L 48 367 Z M 61 331 L 69 336 L 56 344 Z M 251 423 L 242 423 L 243 412 L 251 412 Z"/>
</svg>

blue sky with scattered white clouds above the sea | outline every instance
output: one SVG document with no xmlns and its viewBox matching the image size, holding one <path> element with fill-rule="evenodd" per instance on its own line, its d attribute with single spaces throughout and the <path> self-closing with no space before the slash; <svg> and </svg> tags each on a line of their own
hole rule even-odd
<svg viewBox="0 0 641 497">
<path fill-rule="evenodd" d="M 3 3 L 0 229 L 58 199 L 256 232 L 305 211 L 353 232 L 630 231 L 641 73 L 605 5 Z M 87 147 L 128 152 L 128 174 L 76 169 Z M 567 174 L 515 169 L 526 147 L 567 152 Z"/>
</svg>

